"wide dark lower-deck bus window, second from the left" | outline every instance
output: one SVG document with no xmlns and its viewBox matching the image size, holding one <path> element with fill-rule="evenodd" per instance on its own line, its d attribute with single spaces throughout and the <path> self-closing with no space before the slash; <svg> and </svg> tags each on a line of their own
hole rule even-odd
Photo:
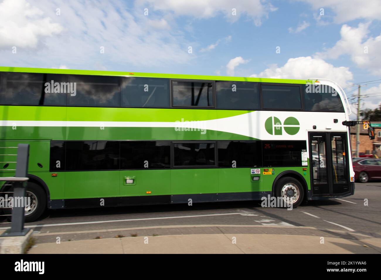
<svg viewBox="0 0 381 280">
<path fill-rule="evenodd" d="M 66 141 L 66 170 L 118 170 L 118 141 Z"/>
</svg>

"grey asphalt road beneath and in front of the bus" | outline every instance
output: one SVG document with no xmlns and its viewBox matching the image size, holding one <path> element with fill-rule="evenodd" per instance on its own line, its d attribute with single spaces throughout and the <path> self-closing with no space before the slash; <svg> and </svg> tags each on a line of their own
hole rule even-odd
<svg viewBox="0 0 381 280">
<path fill-rule="evenodd" d="M 368 200 L 368 206 L 364 205 Z M 143 227 L 240 225 L 314 227 L 356 232 L 381 238 L 381 182 L 356 183 L 355 195 L 342 199 L 309 201 L 291 211 L 263 208 L 260 201 L 195 203 L 188 205 L 130 206 L 79 210 L 48 210 L 39 221 L 27 223 L 38 234 L 97 232 Z M 0 220 L 0 230 L 9 227 Z M 163 230 L 161 231 L 163 233 Z M 165 233 L 165 230 L 164 230 Z"/>
</svg>

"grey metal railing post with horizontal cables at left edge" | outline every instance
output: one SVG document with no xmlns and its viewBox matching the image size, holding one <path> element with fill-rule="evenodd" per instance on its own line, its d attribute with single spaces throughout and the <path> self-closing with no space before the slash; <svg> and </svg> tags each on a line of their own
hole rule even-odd
<svg viewBox="0 0 381 280">
<path fill-rule="evenodd" d="M 13 193 L 13 205 L 12 205 L 12 222 L 11 228 L 3 232 L 1 236 L 24 236 L 29 230 L 24 229 L 24 208 L 26 203 L 26 181 L 28 173 L 28 161 L 29 161 L 29 144 L 18 144 L 17 147 L 0 147 L 0 148 L 13 148 L 17 149 L 17 154 L 1 154 L 0 156 L 17 156 L 16 162 L 1 162 L 1 163 L 16 163 L 16 169 L 7 169 L 6 171 L 13 170 L 16 171 L 14 177 L 0 177 L 0 181 L 13 182 L 13 184 L 6 184 L 6 186 L 12 186 L 13 192 L 3 192 L 3 193 Z M 4 185 L 3 185 L 4 186 Z M 17 205 L 15 198 L 21 198 L 24 200 L 22 205 Z M 10 199 L 6 200 L 9 201 Z M 18 200 L 20 201 L 20 200 Z M 10 207 L 2 207 L 10 208 Z M 2 209 L 0 208 L 0 210 Z M 10 216 L 10 215 L 4 215 Z"/>
</svg>

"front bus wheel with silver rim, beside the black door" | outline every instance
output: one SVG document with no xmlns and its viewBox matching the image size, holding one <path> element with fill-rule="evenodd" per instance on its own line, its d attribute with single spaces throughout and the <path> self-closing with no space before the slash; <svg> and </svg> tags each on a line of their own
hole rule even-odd
<svg viewBox="0 0 381 280">
<path fill-rule="evenodd" d="M 275 195 L 282 197 L 284 202 L 291 203 L 295 208 L 302 203 L 304 190 L 301 183 L 295 178 L 283 177 L 277 182 Z"/>
</svg>

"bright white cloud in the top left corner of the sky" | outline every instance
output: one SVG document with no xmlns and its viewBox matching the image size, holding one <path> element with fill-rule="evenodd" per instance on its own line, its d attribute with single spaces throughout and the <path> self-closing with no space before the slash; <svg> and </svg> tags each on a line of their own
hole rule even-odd
<svg viewBox="0 0 381 280">
<path fill-rule="evenodd" d="M 0 48 L 36 48 L 41 38 L 52 37 L 62 30 L 61 24 L 25 0 L 0 3 Z"/>
</svg>

